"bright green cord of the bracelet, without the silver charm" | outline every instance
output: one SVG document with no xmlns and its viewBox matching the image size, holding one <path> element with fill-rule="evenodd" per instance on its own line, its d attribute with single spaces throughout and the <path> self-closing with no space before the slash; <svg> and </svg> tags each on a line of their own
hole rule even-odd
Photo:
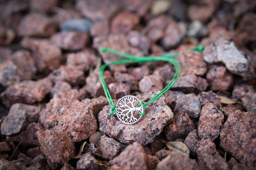
<svg viewBox="0 0 256 170">
<path fill-rule="evenodd" d="M 191 48 L 189 50 L 203 51 L 204 50 L 204 46 L 201 45 L 199 47 Z M 163 94 L 165 94 L 166 91 L 168 91 L 172 87 L 172 85 L 175 84 L 177 79 L 180 77 L 180 71 L 181 71 L 180 64 L 175 59 L 172 59 L 174 57 L 177 57 L 179 55 L 179 53 L 172 54 L 172 55 L 169 55 L 169 56 L 163 56 L 163 57 L 145 57 L 145 56 L 144 57 L 136 57 L 136 56 L 132 56 L 132 55 L 129 55 L 129 54 L 124 54 L 124 53 L 122 53 L 120 51 L 116 51 L 114 49 L 107 48 L 107 47 L 101 48 L 100 51 L 101 52 L 111 52 L 113 54 L 117 54 L 117 55 L 119 55 L 121 57 L 127 58 L 127 59 L 118 59 L 118 60 L 115 60 L 113 62 L 109 62 L 108 64 L 104 64 L 104 65 L 102 65 L 99 68 L 99 79 L 100 79 L 100 82 L 102 83 L 102 87 L 103 87 L 103 90 L 104 90 L 104 92 L 106 94 L 106 97 L 108 99 L 109 105 L 111 106 L 111 113 L 110 113 L 110 115 L 112 115 L 112 114 L 114 114 L 116 112 L 116 109 L 115 109 L 116 106 L 114 105 L 114 102 L 113 102 L 113 100 L 111 98 L 111 95 L 110 95 L 110 93 L 108 91 L 108 87 L 107 87 L 106 82 L 105 82 L 104 77 L 103 77 L 103 71 L 109 65 L 119 65 L 119 64 L 126 64 L 126 63 L 135 63 L 135 62 L 141 63 L 141 62 L 153 62 L 153 61 L 166 61 L 166 62 L 172 63 L 175 66 L 175 75 L 172 78 L 172 81 L 162 91 L 160 91 L 159 94 L 154 96 L 148 102 L 146 102 L 146 103 L 140 102 L 139 105 L 140 106 L 143 105 L 143 108 L 144 108 L 143 113 L 140 112 L 140 115 L 144 115 L 145 114 L 145 107 L 147 105 L 149 105 L 150 103 L 154 102 L 156 99 L 158 99 Z"/>
</svg>

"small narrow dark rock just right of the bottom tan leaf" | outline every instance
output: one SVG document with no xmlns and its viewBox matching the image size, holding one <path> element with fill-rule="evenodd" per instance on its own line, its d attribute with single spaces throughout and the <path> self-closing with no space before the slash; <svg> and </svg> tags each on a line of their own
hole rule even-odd
<svg viewBox="0 0 256 170">
<path fill-rule="evenodd" d="M 196 129 L 192 130 L 184 140 L 184 144 L 186 144 L 186 146 L 189 148 L 190 155 L 196 156 L 196 145 L 199 141 L 200 138 Z"/>
</svg>

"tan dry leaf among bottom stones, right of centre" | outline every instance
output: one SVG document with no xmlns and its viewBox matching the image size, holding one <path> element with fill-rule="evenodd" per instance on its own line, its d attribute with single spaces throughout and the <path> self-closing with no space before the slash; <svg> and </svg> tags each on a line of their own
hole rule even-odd
<svg viewBox="0 0 256 170">
<path fill-rule="evenodd" d="M 189 156 L 189 148 L 186 146 L 186 144 L 182 143 L 182 142 L 166 142 L 163 141 L 166 146 L 168 147 L 169 150 L 172 151 L 177 151 L 180 153 L 183 153 L 186 156 Z"/>
</svg>

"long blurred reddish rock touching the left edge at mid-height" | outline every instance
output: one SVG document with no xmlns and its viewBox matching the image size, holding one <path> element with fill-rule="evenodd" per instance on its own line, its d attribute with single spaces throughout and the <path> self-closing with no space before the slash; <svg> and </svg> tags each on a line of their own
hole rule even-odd
<svg viewBox="0 0 256 170">
<path fill-rule="evenodd" d="M 51 89 L 52 83 L 48 79 L 24 80 L 10 85 L 0 97 L 6 107 L 11 107 L 18 102 L 32 104 L 42 101 Z"/>
</svg>

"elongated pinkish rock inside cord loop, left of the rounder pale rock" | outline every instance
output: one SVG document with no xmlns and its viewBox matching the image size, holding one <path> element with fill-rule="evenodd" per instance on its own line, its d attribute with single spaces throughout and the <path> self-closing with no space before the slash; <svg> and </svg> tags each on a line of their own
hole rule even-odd
<svg viewBox="0 0 256 170">
<path fill-rule="evenodd" d="M 138 91 L 139 90 L 137 79 L 130 74 L 115 72 L 114 78 L 116 79 L 116 81 L 119 84 L 124 83 L 124 84 L 128 85 L 130 91 Z"/>
</svg>

